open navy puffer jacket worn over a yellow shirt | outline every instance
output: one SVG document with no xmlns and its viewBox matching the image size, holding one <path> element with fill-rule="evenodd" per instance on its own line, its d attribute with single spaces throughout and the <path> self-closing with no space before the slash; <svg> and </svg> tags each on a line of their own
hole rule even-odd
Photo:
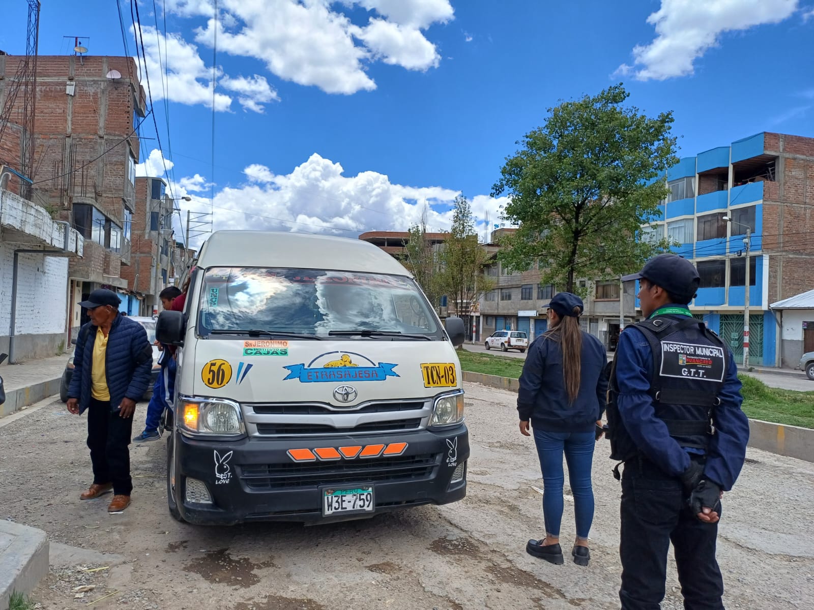
<svg viewBox="0 0 814 610">
<path fill-rule="evenodd" d="M 79 399 L 80 413 L 90 406 L 90 370 L 94 364 L 96 330 L 91 322 L 79 329 L 73 355 L 74 369 L 68 397 Z M 105 351 L 105 377 L 111 410 L 115 411 L 122 399 L 141 399 L 150 386 L 151 371 L 152 347 L 147 340 L 147 331 L 135 320 L 119 314 L 107 335 Z"/>
</svg>

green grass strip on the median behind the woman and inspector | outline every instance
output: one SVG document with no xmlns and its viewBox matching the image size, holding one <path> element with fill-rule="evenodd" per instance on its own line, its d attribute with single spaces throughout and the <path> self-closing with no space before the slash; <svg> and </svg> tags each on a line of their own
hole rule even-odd
<svg viewBox="0 0 814 610">
<path fill-rule="evenodd" d="M 518 379 L 523 371 L 523 359 L 501 355 L 458 350 L 461 368 L 470 373 L 486 373 Z M 755 420 L 776 424 L 799 425 L 814 429 L 814 392 L 798 392 L 772 388 L 763 381 L 739 375 L 743 383 L 743 412 Z"/>
</svg>

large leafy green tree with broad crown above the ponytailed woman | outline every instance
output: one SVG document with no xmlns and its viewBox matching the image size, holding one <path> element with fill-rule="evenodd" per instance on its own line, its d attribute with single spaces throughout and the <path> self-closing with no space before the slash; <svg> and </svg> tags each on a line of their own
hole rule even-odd
<svg viewBox="0 0 814 610">
<path fill-rule="evenodd" d="M 611 279 L 641 268 L 666 242 L 637 239 L 659 216 L 663 180 L 678 162 L 672 112 L 625 107 L 619 85 L 549 108 L 545 124 L 505 159 L 492 196 L 510 196 L 519 224 L 498 257 L 514 271 L 540 261 L 540 281 L 574 291 L 579 278 Z"/>
</svg>

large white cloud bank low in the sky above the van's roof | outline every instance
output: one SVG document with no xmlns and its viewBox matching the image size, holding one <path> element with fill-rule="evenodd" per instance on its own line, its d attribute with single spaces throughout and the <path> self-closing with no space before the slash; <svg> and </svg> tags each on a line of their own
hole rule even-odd
<svg viewBox="0 0 814 610">
<path fill-rule="evenodd" d="M 426 202 L 428 227 L 449 229 L 449 207 L 460 191 L 441 186 L 398 185 L 379 172 L 345 176 L 339 163 L 314 154 L 286 175 L 275 175 L 265 165 L 252 164 L 243 170 L 244 185 L 217 191 L 214 198 L 213 228 L 261 229 L 300 233 L 325 233 L 356 237 L 371 230 L 405 231 L 421 220 Z M 189 185 L 205 183 L 203 176 L 182 178 L 173 185 L 175 197 L 189 195 L 189 203 L 178 202 L 182 210 L 208 211 L 208 198 L 190 192 Z M 470 199 L 472 211 L 484 233 L 490 222 L 500 222 L 501 205 L 506 198 L 477 195 Z M 193 246 L 197 244 L 193 242 Z"/>
</svg>

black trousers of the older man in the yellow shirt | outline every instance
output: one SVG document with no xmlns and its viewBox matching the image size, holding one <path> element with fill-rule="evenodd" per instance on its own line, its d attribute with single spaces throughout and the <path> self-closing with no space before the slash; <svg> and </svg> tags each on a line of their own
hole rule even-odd
<svg viewBox="0 0 814 610">
<path fill-rule="evenodd" d="M 133 416 L 111 412 L 109 402 L 90 399 L 88 407 L 88 448 L 94 466 L 94 483 L 113 484 L 115 495 L 130 495 L 130 451 Z"/>
</svg>

